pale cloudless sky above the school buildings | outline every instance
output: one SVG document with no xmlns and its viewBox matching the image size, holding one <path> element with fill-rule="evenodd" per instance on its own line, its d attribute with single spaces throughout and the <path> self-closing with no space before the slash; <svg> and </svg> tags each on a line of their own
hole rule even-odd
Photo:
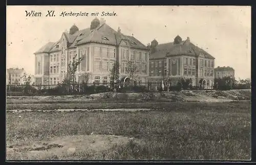
<svg viewBox="0 0 256 165">
<path fill-rule="evenodd" d="M 45 16 L 54 10 L 55 17 Z M 26 11 L 41 12 L 40 17 Z M 89 16 L 60 16 L 61 12 L 86 12 Z M 116 16 L 100 16 L 101 12 Z M 179 35 L 214 56 L 215 67 L 230 66 L 235 77 L 251 77 L 251 7 L 249 6 L 7 6 L 7 68 L 24 68 L 34 74 L 34 52 L 56 42 L 72 25 L 89 28 L 95 16 L 143 44 L 156 39 L 173 42 Z M 15 13 L 15 14 L 14 14 Z"/>
</svg>

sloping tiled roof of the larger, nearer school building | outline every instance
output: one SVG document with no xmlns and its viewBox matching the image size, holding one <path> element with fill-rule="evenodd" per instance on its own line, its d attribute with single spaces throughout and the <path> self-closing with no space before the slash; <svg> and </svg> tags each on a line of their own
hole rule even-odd
<svg viewBox="0 0 256 165">
<path fill-rule="evenodd" d="M 131 48 L 135 49 L 147 49 L 147 47 L 142 44 L 139 40 L 134 38 L 133 36 L 126 36 L 121 33 L 117 33 L 114 29 L 112 29 L 106 23 L 99 25 L 97 28 L 90 30 L 90 28 L 76 31 L 74 34 L 69 34 L 67 32 L 63 33 L 68 41 L 68 48 L 74 48 L 79 44 L 95 42 L 95 43 L 103 43 L 110 45 L 119 45 L 120 41 L 125 39 L 129 41 L 129 45 Z M 41 52 L 54 52 L 60 51 L 61 48 L 56 48 L 57 42 L 49 42 L 48 45 L 45 45 L 36 53 Z M 45 48 L 46 47 L 46 48 Z"/>
</svg>

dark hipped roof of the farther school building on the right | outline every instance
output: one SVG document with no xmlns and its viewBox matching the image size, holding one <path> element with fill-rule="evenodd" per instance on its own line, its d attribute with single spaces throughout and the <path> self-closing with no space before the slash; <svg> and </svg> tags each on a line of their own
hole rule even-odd
<svg viewBox="0 0 256 165">
<path fill-rule="evenodd" d="M 199 56 L 200 54 L 204 55 L 205 58 L 215 59 L 209 53 L 187 40 L 181 41 L 178 44 L 174 44 L 174 42 L 158 44 L 155 52 L 150 55 L 150 59 L 160 59 L 177 55 Z"/>
</svg>

